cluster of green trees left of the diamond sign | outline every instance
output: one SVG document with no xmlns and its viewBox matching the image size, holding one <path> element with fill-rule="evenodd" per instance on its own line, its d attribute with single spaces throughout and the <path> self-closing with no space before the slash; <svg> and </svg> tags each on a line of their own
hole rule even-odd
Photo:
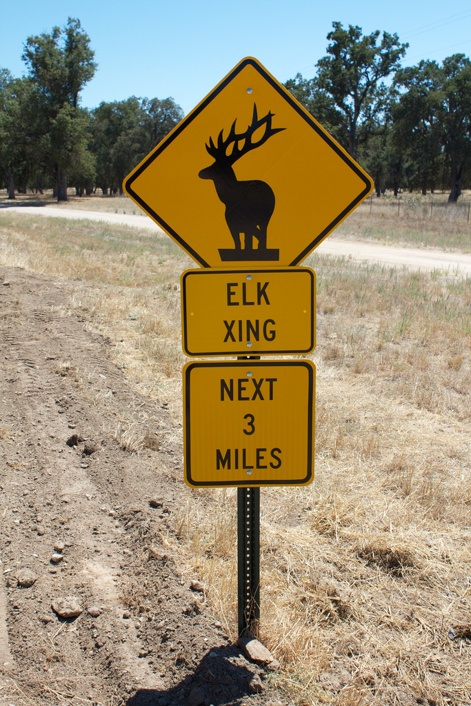
<svg viewBox="0 0 471 706">
<path fill-rule="evenodd" d="M 0 69 L 0 180 L 15 188 L 54 184 L 59 201 L 67 186 L 78 194 L 121 191 L 126 175 L 182 119 L 172 100 L 153 98 L 80 107 L 80 93 L 97 65 L 79 20 L 25 42 L 28 76 Z M 3 179 L 2 179 L 3 177 Z"/>
</svg>

